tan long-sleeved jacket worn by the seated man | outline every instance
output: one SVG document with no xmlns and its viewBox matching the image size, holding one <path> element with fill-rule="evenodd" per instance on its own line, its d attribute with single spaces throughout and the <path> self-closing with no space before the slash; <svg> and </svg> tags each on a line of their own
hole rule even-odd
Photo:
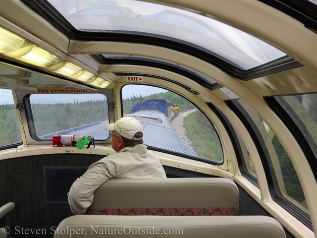
<svg viewBox="0 0 317 238">
<path fill-rule="evenodd" d="M 92 204 L 94 191 L 106 180 L 116 178 L 166 178 L 159 159 L 147 151 L 145 144 L 125 147 L 92 164 L 78 178 L 68 192 L 68 203 L 73 213 L 84 214 Z"/>
</svg>

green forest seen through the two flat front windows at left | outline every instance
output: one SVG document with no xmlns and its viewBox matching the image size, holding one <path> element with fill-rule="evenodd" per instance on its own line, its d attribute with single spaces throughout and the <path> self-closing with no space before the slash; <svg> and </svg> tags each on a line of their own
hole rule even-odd
<svg viewBox="0 0 317 238">
<path fill-rule="evenodd" d="M 31 104 L 38 136 L 108 119 L 106 100 L 74 103 Z M 0 105 L 0 146 L 22 141 L 14 105 Z"/>
</svg>

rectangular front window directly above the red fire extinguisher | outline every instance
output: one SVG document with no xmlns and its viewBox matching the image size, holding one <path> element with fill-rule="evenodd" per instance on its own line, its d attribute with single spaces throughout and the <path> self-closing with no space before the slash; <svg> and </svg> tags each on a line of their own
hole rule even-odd
<svg viewBox="0 0 317 238">
<path fill-rule="evenodd" d="M 32 94 L 34 139 L 52 140 L 53 135 L 91 135 L 105 140 L 109 132 L 107 98 L 103 94 Z"/>
</svg>

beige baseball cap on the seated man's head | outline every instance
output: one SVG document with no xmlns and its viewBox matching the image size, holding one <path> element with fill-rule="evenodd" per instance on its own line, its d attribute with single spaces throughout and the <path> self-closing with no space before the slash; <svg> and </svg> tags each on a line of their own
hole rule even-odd
<svg viewBox="0 0 317 238">
<path fill-rule="evenodd" d="M 142 132 L 143 128 L 137 119 L 124 117 L 117 120 L 115 123 L 110 123 L 105 126 L 105 130 L 115 130 L 119 135 L 130 140 L 142 140 L 142 137 L 134 138 L 135 133 Z"/>
</svg>

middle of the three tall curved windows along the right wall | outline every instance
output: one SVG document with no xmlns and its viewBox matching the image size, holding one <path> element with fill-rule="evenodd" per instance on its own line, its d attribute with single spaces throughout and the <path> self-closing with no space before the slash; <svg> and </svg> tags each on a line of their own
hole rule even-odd
<svg viewBox="0 0 317 238">
<path fill-rule="evenodd" d="M 305 216 L 310 217 L 301 183 L 279 139 L 247 103 L 239 99 L 234 100 L 234 104 L 248 119 L 258 135 L 264 148 L 265 157 L 268 160 L 268 166 L 278 196 Z M 275 199 L 276 197 L 274 197 Z"/>
</svg>

